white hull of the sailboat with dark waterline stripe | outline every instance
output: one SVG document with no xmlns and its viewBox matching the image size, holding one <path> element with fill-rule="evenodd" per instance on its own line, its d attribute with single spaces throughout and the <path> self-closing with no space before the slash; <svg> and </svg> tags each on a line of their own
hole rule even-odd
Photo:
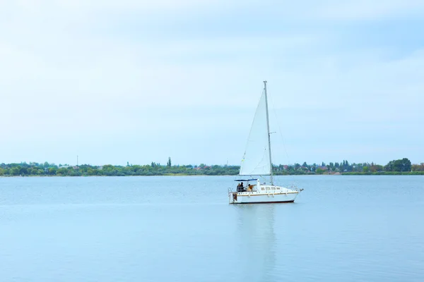
<svg viewBox="0 0 424 282">
<path fill-rule="evenodd" d="M 300 190 L 291 190 L 273 185 L 261 185 L 259 190 L 229 192 L 230 204 L 266 204 L 294 202 Z"/>
</svg>

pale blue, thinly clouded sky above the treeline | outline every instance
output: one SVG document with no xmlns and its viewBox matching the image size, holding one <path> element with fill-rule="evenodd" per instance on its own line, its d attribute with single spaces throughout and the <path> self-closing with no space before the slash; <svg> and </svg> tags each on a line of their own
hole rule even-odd
<svg viewBox="0 0 424 282">
<path fill-rule="evenodd" d="M 0 0 L 0 163 L 424 162 L 424 0 Z"/>
</svg>

